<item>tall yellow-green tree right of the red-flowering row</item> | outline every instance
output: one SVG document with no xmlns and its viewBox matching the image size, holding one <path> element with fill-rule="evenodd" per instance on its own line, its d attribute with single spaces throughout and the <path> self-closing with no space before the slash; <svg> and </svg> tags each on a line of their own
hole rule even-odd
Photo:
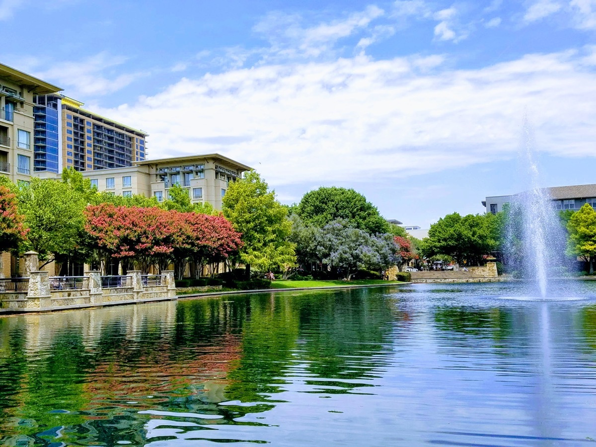
<svg viewBox="0 0 596 447">
<path fill-rule="evenodd" d="M 240 260 L 259 271 L 296 264 L 295 245 L 288 241 L 291 222 L 287 209 L 275 200 L 275 192 L 254 171 L 231 182 L 222 200 L 224 216 L 242 233 Z"/>
</svg>

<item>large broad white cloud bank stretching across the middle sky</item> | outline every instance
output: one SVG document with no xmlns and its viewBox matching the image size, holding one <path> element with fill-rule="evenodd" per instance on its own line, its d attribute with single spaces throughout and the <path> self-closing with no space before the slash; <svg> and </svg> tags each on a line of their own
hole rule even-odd
<svg viewBox="0 0 596 447">
<path fill-rule="evenodd" d="M 149 132 L 152 158 L 217 151 L 282 188 L 512 157 L 526 107 L 541 150 L 595 156 L 591 58 L 526 55 L 479 70 L 443 60 L 357 56 L 230 70 L 98 112 Z"/>
</svg>

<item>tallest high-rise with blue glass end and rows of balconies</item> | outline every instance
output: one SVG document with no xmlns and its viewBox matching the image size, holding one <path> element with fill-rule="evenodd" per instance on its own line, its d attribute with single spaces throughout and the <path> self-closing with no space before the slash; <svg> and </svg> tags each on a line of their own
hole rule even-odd
<svg viewBox="0 0 596 447">
<path fill-rule="evenodd" d="M 132 166 L 147 157 L 147 133 L 82 108 L 63 95 L 35 102 L 35 170 L 58 173 Z"/>
</svg>

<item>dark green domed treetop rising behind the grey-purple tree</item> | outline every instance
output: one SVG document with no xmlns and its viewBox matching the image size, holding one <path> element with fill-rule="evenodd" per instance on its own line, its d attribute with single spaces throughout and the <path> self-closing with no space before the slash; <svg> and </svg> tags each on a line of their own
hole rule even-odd
<svg viewBox="0 0 596 447">
<path fill-rule="evenodd" d="M 306 224 L 323 228 L 337 220 L 369 234 L 389 232 L 389 224 L 364 195 L 355 190 L 321 187 L 306 193 L 297 207 L 297 214 Z"/>
</svg>

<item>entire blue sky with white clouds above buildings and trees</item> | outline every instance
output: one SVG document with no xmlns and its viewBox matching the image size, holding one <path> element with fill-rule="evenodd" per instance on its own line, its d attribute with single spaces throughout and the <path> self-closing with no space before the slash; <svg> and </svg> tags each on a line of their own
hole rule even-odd
<svg viewBox="0 0 596 447">
<path fill-rule="evenodd" d="M 0 0 L 0 21 L 2 63 L 144 129 L 150 158 L 219 152 L 284 203 L 484 212 L 522 188 L 524 116 L 545 186 L 596 183 L 596 0 Z"/>
</svg>

